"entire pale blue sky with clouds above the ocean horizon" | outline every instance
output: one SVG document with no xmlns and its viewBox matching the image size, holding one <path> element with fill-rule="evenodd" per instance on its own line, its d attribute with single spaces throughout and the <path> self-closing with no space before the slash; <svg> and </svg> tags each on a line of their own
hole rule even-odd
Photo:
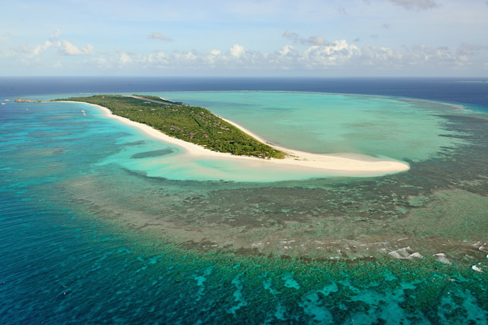
<svg viewBox="0 0 488 325">
<path fill-rule="evenodd" d="M 487 0 L 0 3 L 3 77 L 488 77 Z"/>
</svg>

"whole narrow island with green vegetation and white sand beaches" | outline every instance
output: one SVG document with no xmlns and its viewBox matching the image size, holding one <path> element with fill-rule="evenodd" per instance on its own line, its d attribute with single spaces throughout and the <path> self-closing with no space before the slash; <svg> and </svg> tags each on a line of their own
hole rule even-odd
<svg viewBox="0 0 488 325">
<path fill-rule="evenodd" d="M 408 171 L 402 161 L 363 154 L 314 154 L 267 143 L 241 125 L 220 118 L 203 107 L 189 106 L 148 95 L 94 95 L 52 102 L 83 102 L 97 106 L 111 118 L 185 149 L 194 157 L 247 160 L 254 166 L 273 164 L 286 173 L 296 168 L 320 170 L 323 175 L 369 177 Z"/>
</svg>

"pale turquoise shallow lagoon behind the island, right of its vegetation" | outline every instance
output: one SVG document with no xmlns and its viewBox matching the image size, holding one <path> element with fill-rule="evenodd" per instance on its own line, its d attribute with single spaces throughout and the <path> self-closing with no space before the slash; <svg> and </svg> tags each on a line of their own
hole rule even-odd
<svg viewBox="0 0 488 325">
<path fill-rule="evenodd" d="M 306 152 L 353 152 L 423 161 L 462 141 L 441 113 L 459 106 L 391 97 L 284 92 L 161 93 L 204 106 L 266 141 Z"/>
</svg>

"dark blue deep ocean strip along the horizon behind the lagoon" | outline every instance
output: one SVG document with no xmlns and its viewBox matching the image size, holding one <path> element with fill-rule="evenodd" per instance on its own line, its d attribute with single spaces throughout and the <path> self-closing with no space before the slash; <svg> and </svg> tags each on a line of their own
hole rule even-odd
<svg viewBox="0 0 488 325">
<path fill-rule="evenodd" d="M 488 81 L 483 81 L 486 80 L 481 78 L 0 77 L 0 96 L 282 90 L 401 96 L 487 106 Z"/>
</svg>

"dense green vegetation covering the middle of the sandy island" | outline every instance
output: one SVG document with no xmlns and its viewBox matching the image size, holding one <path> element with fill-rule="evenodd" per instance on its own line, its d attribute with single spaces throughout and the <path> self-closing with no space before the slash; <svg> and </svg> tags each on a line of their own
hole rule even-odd
<svg viewBox="0 0 488 325">
<path fill-rule="evenodd" d="M 107 107 L 115 115 L 144 123 L 174 138 L 204 145 L 218 152 L 261 158 L 283 158 L 285 155 L 202 107 L 187 106 L 146 95 L 96 95 L 61 100 L 98 104 Z"/>
</svg>

